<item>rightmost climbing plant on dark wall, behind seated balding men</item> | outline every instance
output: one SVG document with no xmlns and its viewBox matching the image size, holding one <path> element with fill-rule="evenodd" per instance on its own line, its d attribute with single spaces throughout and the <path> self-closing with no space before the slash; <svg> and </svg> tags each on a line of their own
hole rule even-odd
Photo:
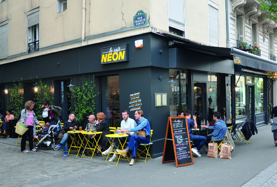
<svg viewBox="0 0 277 187">
<path fill-rule="evenodd" d="M 83 79 L 81 82 L 83 82 Z M 74 107 L 75 111 L 73 112 L 72 107 L 70 106 L 70 111 L 75 114 L 75 119 L 78 123 L 83 121 L 88 113 L 92 113 L 95 110 L 94 98 L 99 94 L 95 93 L 95 84 L 93 81 L 88 82 L 88 78 L 84 80 L 84 85 L 82 86 L 81 82 L 79 86 L 73 87 L 71 91 L 71 97 L 74 98 Z M 70 95 L 70 93 L 68 93 Z M 91 106 L 89 103 L 91 101 Z"/>
</svg>

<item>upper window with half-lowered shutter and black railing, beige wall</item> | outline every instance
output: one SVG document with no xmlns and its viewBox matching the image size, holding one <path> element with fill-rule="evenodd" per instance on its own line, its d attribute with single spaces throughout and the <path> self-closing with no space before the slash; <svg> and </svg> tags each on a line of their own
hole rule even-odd
<svg viewBox="0 0 277 187">
<path fill-rule="evenodd" d="M 39 8 L 27 12 L 28 53 L 39 50 Z"/>
</svg>

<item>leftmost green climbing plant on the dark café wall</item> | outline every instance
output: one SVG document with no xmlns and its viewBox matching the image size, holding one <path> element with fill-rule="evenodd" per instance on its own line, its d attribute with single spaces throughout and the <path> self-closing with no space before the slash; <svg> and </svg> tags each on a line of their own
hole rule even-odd
<svg viewBox="0 0 277 187">
<path fill-rule="evenodd" d="M 20 112 L 24 109 L 23 98 L 23 79 L 16 83 L 14 81 L 13 87 L 9 89 L 11 97 L 7 100 L 7 109 L 12 110 L 12 114 L 15 118 L 19 117 Z"/>
</svg>

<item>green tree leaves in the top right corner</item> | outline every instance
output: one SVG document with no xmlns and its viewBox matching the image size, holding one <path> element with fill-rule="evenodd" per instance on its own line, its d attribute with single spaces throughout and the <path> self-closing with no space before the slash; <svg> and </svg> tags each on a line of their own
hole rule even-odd
<svg viewBox="0 0 277 187">
<path fill-rule="evenodd" d="M 277 20 L 277 0 L 259 0 L 260 10 L 266 11 L 266 18 Z"/>
</svg>

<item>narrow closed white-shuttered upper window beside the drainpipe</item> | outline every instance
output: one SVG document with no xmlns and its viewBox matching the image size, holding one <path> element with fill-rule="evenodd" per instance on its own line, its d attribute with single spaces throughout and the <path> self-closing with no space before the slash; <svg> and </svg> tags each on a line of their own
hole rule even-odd
<svg viewBox="0 0 277 187">
<path fill-rule="evenodd" d="M 209 14 L 209 45 L 219 46 L 218 5 L 208 1 Z"/>
</svg>

